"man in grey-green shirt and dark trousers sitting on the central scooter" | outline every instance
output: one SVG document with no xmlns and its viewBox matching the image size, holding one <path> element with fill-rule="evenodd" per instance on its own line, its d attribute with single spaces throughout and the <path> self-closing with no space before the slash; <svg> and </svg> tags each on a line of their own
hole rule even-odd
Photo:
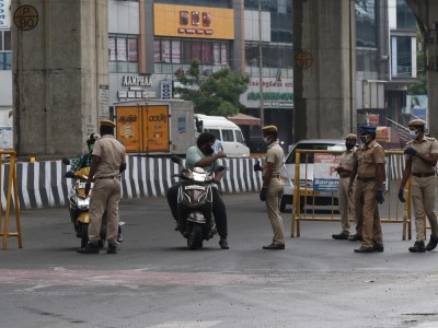
<svg viewBox="0 0 438 328">
<path fill-rule="evenodd" d="M 196 145 L 191 147 L 186 152 L 185 167 L 193 169 L 194 167 L 203 167 L 206 171 L 215 172 L 215 183 L 219 184 L 223 175 L 223 171 L 217 171 L 219 167 L 218 160 L 227 157 L 227 154 L 222 151 L 215 153 L 216 137 L 209 132 L 203 132 L 199 134 Z M 168 202 L 171 208 L 173 219 L 175 219 L 177 226 L 175 230 L 180 230 L 177 219 L 177 192 L 180 184 L 175 184 L 168 190 Z M 215 215 L 218 234 L 220 236 L 219 246 L 221 249 L 229 249 L 227 241 L 227 209 L 223 203 L 222 197 L 218 188 L 212 189 L 212 214 Z"/>
</svg>

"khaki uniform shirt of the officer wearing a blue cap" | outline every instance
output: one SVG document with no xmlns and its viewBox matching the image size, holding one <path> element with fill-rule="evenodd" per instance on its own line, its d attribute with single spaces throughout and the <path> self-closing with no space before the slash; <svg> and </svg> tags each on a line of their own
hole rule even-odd
<svg viewBox="0 0 438 328">
<path fill-rule="evenodd" d="M 372 140 L 368 145 L 364 145 L 356 151 L 355 161 L 358 161 L 358 177 L 376 177 L 376 164 L 384 164 L 385 162 L 384 150 L 376 140 Z"/>
</svg>

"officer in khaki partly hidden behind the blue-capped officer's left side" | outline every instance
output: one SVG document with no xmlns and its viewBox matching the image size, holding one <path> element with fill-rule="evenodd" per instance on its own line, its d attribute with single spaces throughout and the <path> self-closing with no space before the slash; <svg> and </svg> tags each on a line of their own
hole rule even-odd
<svg viewBox="0 0 438 328">
<path fill-rule="evenodd" d="M 335 168 L 339 175 L 337 190 L 342 232 L 339 234 L 332 235 L 334 239 L 347 239 L 349 237 L 350 218 L 356 221 L 354 197 L 348 192 L 349 176 L 355 164 L 356 141 L 357 136 L 354 133 L 348 133 L 345 137 L 346 151 L 341 155 L 339 166 Z"/>
</svg>

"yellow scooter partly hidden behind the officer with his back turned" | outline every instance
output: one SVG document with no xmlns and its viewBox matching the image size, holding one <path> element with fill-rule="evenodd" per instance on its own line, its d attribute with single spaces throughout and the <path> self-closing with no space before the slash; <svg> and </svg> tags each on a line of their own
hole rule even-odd
<svg viewBox="0 0 438 328">
<path fill-rule="evenodd" d="M 70 160 L 62 159 L 62 163 L 65 165 L 70 165 Z M 74 176 L 72 177 L 73 183 L 68 195 L 70 220 L 73 223 L 76 236 L 81 239 L 81 248 L 85 247 L 85 245 L 89 243 L 90 196 L 93 192 L 93 184 L 91 184 L 90 192 L 85 197 L 85 184 L 89 174 L 89 166 L 82 167 L 74 172 Z M 100 233 L 101 241 L 99 242 L 100 247 L 103 247 L 105 245 L 107 221 L 107 214 L 105 211 L 102 216 L 102 227 Z M 120 225 L 123 225 L 123 222 L 120 222 L 118 225 L 117 242 L 119 243 L 123 241 Z"/>
</svg>

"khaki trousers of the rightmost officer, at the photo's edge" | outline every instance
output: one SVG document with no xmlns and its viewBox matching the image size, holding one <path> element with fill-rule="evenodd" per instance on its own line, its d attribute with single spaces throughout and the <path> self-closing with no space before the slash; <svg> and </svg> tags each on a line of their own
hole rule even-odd
<svg viewBox="0 0 438 328">
<path fill-rule="evenodd" d="M 426 216 L 429 220 L 431 234 L 437 237 L 437 213 L 435 212 L 435 194 L 437 189 L 437 178 L 435 176 L 412 176 L 411 186 L 417 241 L 425 239 Z"/>
</svg>

